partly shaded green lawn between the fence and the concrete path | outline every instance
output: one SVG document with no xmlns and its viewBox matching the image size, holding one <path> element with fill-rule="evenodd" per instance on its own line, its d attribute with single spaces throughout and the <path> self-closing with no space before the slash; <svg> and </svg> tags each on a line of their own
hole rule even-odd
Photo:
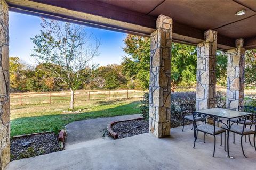
<svg viewBox="0 0 256 170">
<path fill-rule="evenodd" d="M 92 100 L 75 103 L 78 114 L 63 114 L 69 103 L 11 106 L 11 136 L 63 129 L 70 122 L 89 118 L 138 114 L 140 99 Z"/>
</svg>

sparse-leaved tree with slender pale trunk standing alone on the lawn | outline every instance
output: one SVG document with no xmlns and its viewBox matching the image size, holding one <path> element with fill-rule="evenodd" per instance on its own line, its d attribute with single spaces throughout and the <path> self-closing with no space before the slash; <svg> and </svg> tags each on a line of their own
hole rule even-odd
<svg viewBox="0 0 256 170">
<path fill-rule="evenodd" d="M 74 92 L 84 82 L 81 70 L 99 55 L 100 41 L 94 39 L 93 42 L 84 27 L 70 23 L 42 19 L 41 27 L 39 35 L 31 38 L 35 44 L 31 56 L 37 58 L 39 64 L 44 63 L 45 69 L 70 89 L 70 109 L 73 110 Z"/>
</svg>

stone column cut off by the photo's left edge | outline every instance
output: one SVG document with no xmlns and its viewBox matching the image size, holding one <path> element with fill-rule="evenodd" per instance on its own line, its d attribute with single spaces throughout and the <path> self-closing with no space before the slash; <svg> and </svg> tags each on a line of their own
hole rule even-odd
<svg viewBox="0 0 256 170">
<path fill-rule="evenodd" d="M 9 30 L 8 5 L 0 7 L 0 169 L 10 161 Z"/>
</svg>

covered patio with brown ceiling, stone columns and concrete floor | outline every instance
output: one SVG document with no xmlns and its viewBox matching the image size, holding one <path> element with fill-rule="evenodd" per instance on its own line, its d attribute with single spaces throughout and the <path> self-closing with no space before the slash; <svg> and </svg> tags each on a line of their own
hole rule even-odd
<svg viewBox="0 0 256 170">
<path fill-rule="evenodd" d="M 247 49 L 256 48 L 254 1 L 1 0 L 0 169 L 10 160 L 8 9 L 147 36 L 151 40 L 150 134 L 28 158 L 12 162 L 8 169 L 235 169 L 255 164 L 255 150 L 250 145 L 244 145 L 247 159 L 236 147 L 239 142 L 230 145 L 235 159 L 227 159 L 219 146 L 217 158 L 212 158 L 212 137 L 207 137 L 204 145 L 197 142 L 193 149 L 193 131 L 186 129 L 182 133 L 180 128 L 170 128 L 172 42 L 197 46 L 197 110 L 215 107 L 217 49 L 228 53 L 226 107 L 237 109 L 243 105 L 244 54 Z"/>
</svg>

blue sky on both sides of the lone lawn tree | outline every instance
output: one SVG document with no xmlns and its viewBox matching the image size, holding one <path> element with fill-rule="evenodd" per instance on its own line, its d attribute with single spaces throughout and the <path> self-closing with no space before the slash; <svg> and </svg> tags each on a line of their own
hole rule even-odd
<svg viewBox="0 0 256 170">
<path fill-rule="evenodd" d="M 41 30 L 41 18 L 15 12 L 9 12 L 9 34 L 10 34 L 10 56 L 19 57 L 28 64 L 35 65 L 36 62 L 30 54 L 33 53 L 33 43 L 30 37 L 38 35 Z M 86 27 L 88 32 L 92 32 L 93 36 L 101 39 L 100 56 L 94 58 L 91 64 L 107 65 L 119 64 L 124 47 L 123 39 L 125 33 L 108 31 L 103 29 Z"/>
</svg>

